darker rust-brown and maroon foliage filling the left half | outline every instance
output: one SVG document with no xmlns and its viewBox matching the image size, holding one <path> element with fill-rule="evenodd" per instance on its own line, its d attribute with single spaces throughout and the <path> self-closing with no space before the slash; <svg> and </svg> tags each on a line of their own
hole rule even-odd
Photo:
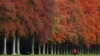
<svg viewBox="0 0 100 56">
<path fill-rule="evenodd" d="M 48 3 L 44 0 L 0 0 L 1 32 L 6 37 L 15 37 L 16 34 L 28 37 L 36 32 L 39 42 L 44 43 L 48 38 L 53 16 L 53 10 L 48 7 L 52 8 L 54 3 L 51 1 L 53 0 Z"/>
</svg>

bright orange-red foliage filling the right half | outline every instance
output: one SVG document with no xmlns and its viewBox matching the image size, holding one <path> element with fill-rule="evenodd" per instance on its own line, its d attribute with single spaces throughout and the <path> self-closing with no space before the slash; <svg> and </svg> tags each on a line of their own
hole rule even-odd
<svg viewBox="0 0 100 56">
<path fill-rule="evenodd" d="M 87 47 L 97 43 L 96 40 L 99 39 L 100 32 L 97 11 L 100 6 L 99 0 L 56 0 L 55 3 L 57 8 L 55 11 L 57 15 L 62 17 L 62 22 L 60 20 L 58 24 L 64 27 L 62 29 L 66 29 L 65 34 L 63 34 L 66 35 L 66 39 L 68 38 L 70 42 L 78 44 L 79 38 L 82 38 L 83 44 Z M 63 35 L 54 38 L 61 42 L 65 39 Z"/>
</svg>

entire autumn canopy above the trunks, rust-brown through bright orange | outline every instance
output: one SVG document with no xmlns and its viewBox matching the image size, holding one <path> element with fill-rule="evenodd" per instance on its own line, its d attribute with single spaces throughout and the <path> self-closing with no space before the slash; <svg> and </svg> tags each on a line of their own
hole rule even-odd
<svg viewBox="0 0 100 56">
<path fill-rule="evenodd" d="M 0 0 L 0 32 L 5 37 L 37 34 L 40 43 L 69 40 L 100 44 L 100 0 Z"/>
</svg>

